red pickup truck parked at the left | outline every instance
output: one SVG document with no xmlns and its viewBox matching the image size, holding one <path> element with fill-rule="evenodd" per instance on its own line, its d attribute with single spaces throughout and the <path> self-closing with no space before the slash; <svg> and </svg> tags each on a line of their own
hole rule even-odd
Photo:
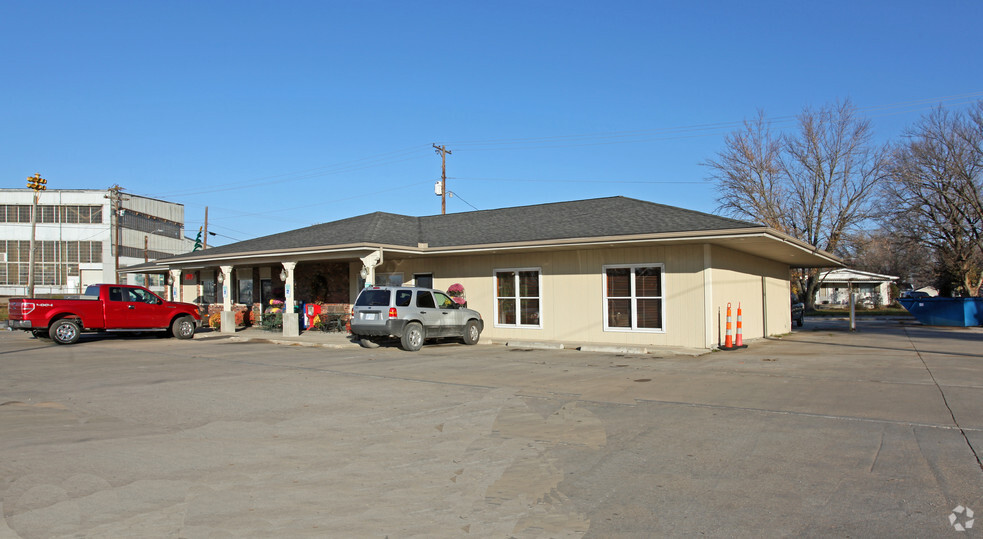
<svg viewBox="0 0 983 539">
<path fill-rule="evenodd" d="M 73 344 L 83 331 L 170 331 L 190 339 L 201 322 L 198 306 L 165 301 L 140 286 L 96 284 L 77 299 L 11 299 L 7 326 Z"/>
</svg>

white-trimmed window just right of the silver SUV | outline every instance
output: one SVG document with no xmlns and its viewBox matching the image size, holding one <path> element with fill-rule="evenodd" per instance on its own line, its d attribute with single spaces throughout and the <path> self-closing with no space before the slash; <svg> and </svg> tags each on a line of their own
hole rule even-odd
<svg viewBox="0 0 983 539">
<path fill-rule="evenodd" d="M 495 270 L 495 326 L 542 327 L 539 268 Z"/>
</svg>

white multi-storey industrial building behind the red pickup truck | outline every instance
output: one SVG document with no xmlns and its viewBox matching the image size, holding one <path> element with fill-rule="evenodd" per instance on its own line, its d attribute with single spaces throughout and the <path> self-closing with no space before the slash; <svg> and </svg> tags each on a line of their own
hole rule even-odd
<svg viewBox="0 0 983 539">
<path fill-rule="evenodd" d="M 78 294 L 86 286 L 116 282 L 126 267 L 191 251 L 184 235 L 184 205 L 123 194 L 118 219 L 112 193 L 97 189 L 41 191 L 38 199 L 34 293 Z M 31 189 L 0 189 L 0 296 L 25 296 L 31 242 Z M 123 274 L 123 282 L 145 284 L 147 276 Z M 149 276 L 150 288 L 163 293 L 163 276 Z"/>
</svg>

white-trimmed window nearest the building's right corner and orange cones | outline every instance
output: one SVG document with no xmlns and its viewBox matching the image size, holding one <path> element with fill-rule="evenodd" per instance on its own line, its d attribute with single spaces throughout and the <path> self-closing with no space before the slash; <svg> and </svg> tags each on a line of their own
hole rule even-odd
<svg viewBox="0 0 983 539">
<path fill-rule="evenodd" d="M 665 331 L 662 264 L 604 266 L 604 330 Z"/>
</svg>

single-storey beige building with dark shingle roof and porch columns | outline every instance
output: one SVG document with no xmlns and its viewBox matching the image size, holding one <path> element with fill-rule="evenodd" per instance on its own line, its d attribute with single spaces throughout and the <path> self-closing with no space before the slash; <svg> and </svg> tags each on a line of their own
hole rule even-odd
<svg viewBox="0 0 983 539">
<path fill-rule="evenodd" d="M 745 339 L 788 333 L 790 268 L 841 266 L 765 226 L 610 197 L 425 217 L 377 212 L 156 268 L 183 284 L 172 299 L 221 289 L 220 301 L 204 295 L 225 311 L 243 298 L 350 304 L 366 281 L 459 283 L 485 320 L 484 341 L 710 349 L 722 340 L 728 303 L 735 321 L 742 307 Z M 298 297 L 301 289 L 321 298 Z M 287 325 L 285 333 L 296 331 Z"/>
</svg>

